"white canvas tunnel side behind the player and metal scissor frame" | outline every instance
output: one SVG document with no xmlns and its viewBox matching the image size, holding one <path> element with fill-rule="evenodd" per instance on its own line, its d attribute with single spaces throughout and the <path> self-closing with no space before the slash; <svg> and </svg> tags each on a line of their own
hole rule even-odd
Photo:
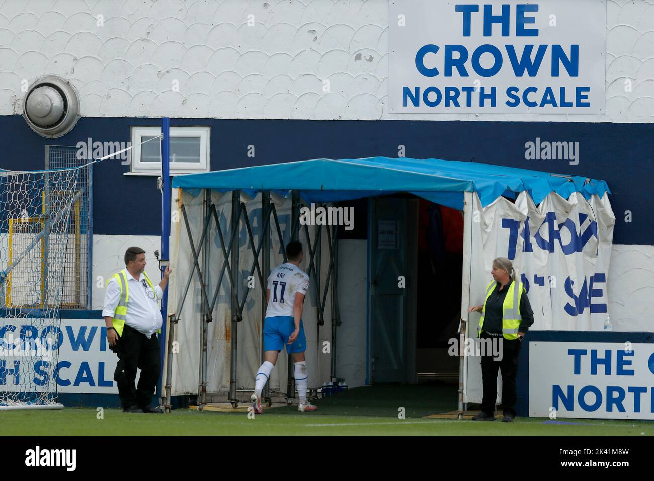
<svg viewBox="0 0 654 481">
<path fill-rule="evenodd" d="M 195 195 L 194 195 L 195 194 Z M 201 189 L 173 191 L 173 217 L 177 212 L 177 222 L 173 222 L 171 229 L 171 265 L 175 269 L 170 279 L 168 315 L 178 317 L 173 339 L 168 338 L 167 343 L 173 343 L 171 353 L 171 376 L 163 380 L 163 385 L 170 383 L 170 394 L 178 395 L 200 395 L 205 393 L 207 399 L 221 399 L 230 392 L 235 380 L 236 391 L 251 391 L 254 387 L 256 370 L 262 362 L 261 346 L 261 323 L 262 306 L 265 308 L 266 285 L 262 286 L 258 277 L 258 270 L 254 266 L 254 253 L 256 247 L 262 241 L 264 220 L 262 219 L 262 193 L 250 198 L 241 193 L 241 202 L 244 204 L 245 214 L 249 220 L 250 229 L 243 217 L 239 221 L 239 228 L 235 236 L 235 243 L 238 243 L 237 272 L 239 290 L 237 298 L 241 302 L 247 298 L 243 306 L 243 318 L 237 322 L 237 332 L 233 332 L 233 316 L 237 315 L 238 309 L 233 309 L 230 301 L 232 287 L 230 281 L 230 268 L 234 266 L 231 262 L 227 265 L 222 242 L 226 248 L 230 245 L 232 236 L 232 194 L 233 192 L 218 192 L 217 190 Z M 208 201 L 208 202 L 207 202 Z M 291 207 L 292 197 L 283 198 L 271 194 L 270 202 L 275 207 L 276 216 L 271 215 L 269 220 L 269 268 L 284 262 L 282 251 L 284 245 L 291 240 Z M 215 216 L 209 215 L 207 223 L 207 205 L 214 205 Z M 183 209 L 182 209 L 183 206 Z M 222 232 L 216 230 L 215 218 L 217 217 Z M 279 221 L 279 230 L 275 218 Z M 188 221 L 188 228 L 186 227 Z M 303 310 L 303 323 L 307 336 L 306 357 L 311 370 L 309 370 L 309 387 L 322 385 L 330 379 L 332 356 L 330 351 L 332 332 L 332 283 L 326 288 L 328 276 L 334 276 L 334 270 L 329 273 L 330 249 L 328 242 L 332 240 L 328 236 L 327 227 L 317 229 L 315 226 L 300 225 L 298 227 L 298 240 L 303 243 L 305 261 L 303 268 L 309 271 L 310 249 L 315 251 L 315 272 L 311 274 L 311 285 L 309 293 L 305 298 Z M 331 228 L 331 227 L 330 227 Z M 205 241 L 199 249 L 201 236 L 206 230 Z M 249 232 L 252 234 L 250 243 Z M 204 262 L 205 268 L 202 272 L 205 291 L 209 293 L 209 306 L 211 310 L 211 321 L 206 323 L 206 336 L 203 336 L 203 295 L 199 276 L 194 272 L 194 253 L 191 247 L 188 233 L 190 232 L 200 266 Z M 307 242 L 307 232 L 308 242 Z M 316 243 L 318 232 L 322 241 Z M 279 240 L 281 234 L 283 241 Z M 229 250 L 229 249 L 228 249 Z M 258 255 L 259 267 L 263 269 L 264 247 L 262 245 Z M 231 257 L 231 253 L 230 253 Z M 232 260 L 232 259 L 230 259 Z M 227 267 L 227 268 L 226 268 Z M 252 272 L 254 268 L 254 272 Z M 222 277 L 221 277 L 222 272 Z M 264 283 L 267 274 L 263 274 Z M 188 279 L 190 278 L 190 283 Z M 319 286 L 315 279 L 320 279 Z M 220 289 L 218 281 L 220 280 Z M 188 290 L 186 284 L 189 284 Z M 320 296 L 318 298 L 318 291 Z M 325 293 L 325 289 L 327 292 Z M 184 297 L 184 293 L 186 296 Z M 324 325 L 318 326 L 318 303 L 324 303 Z M 167 333 L 170 331 L 167 330 Z M 203 338 L 206 340 L 204 341 Z M 327 344 L 326 344 L 327 343 Z M 232 351 L 235 349 L 236 371 L 232 372 Z M 203 355 L 203 350 L 206 354 Z M 269 388 L 273 391 L 286 392 L 288 383 L 288 358 L 284 353 L 279 356 L 275 370 L 271 374 Z M 203 374 L 204 370 L 204 374 Z M 167 373 L 164 369 L 164 376 Z M 204 381 L 203 381 L 204 380 Z M 230 399 L 231 401 L 231 399 Z"/>
</svg>

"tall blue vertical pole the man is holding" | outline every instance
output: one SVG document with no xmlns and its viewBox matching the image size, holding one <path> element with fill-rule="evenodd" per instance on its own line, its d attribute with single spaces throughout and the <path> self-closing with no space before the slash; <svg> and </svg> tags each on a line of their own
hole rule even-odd
<svg viewBox="0 0 654 481">
<path fill-rule="evenodd" d="M 170 240 L 170 169 L 169 169 L 169 160 L 170 160 L 170 119 L 168 117 L 162 118 L 162 185 L 163 185 L 163 196 L 162 196 L 162 260 L 169 260 L 168 255 L 168 242 Z M 167 264 L 167 262 L 165 262 Z M 162 266 L 162 277 L 165 267 Z M 163 356 L 165 355 L 165 347 L 167 346 L 165 342 L 165 331 L 166 331 L 166 322 L 167 322 L 167 308 L 168 308 L 168 289 L 166 288 L 163 291 L 162 298 L 162 316 L 163 316 L 163 325 L 162 325 L 162 334 L 160 336 L 159 344 L 161 346 L 161 366 L 162 371 L 159 375 L 159 382 L 157 383 L 157 397 L 162 396 L 162 380 L 163 380 Z"/>
</svg>

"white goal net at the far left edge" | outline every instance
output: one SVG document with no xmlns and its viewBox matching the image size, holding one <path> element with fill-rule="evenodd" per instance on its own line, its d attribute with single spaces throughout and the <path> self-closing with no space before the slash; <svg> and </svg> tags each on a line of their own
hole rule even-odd
<svg viewBox="0 0 654 481">
<path fill-rule="evenodd" d="M 79 172 L 0 169 L 0 409 L 63 407 L 60 308 Z"/>
</svg>

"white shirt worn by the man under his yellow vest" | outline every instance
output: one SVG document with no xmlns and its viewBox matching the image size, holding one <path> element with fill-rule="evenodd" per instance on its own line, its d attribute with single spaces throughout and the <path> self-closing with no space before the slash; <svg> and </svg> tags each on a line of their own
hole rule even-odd
<svg viewBox="0 0 654 481">
<path fill-rule="evenodd" d="M 125 323 L 133 329 L 143 332 L 148 339 L 152 337 L 154 332 L 161 329 L 163 325 L 162 312 L 157 304 L 157 300 L 163 296 L 163 290 L 158 284 L 154 284 L 154 293 L 156 298 L 151 299 L 148 297 L 148 291 L 152 292 L 150 285 L 147 284 L 143 273 L 139 274 L 139 278 L 135 279 L 129 271 L 127 272 L 127 282 L 129 298 L 127 300 L 127 316 Z M 148 287 L 144 287 L 143 283 Z M 151 296 L 152 294 L 150 294 Z M 102 317 L 114 317 L 116 307 L 120 302 L 120 285 L 116 277 L 112 277 L 107 285 L 107 292 L 105 293 L 105 306 L 102 310 Z"/>
</svg>

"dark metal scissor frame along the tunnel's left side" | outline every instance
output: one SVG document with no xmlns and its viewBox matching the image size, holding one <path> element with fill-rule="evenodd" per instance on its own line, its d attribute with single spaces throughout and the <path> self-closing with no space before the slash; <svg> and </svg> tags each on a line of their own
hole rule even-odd
<svg viewBox="0 0 654 481">
<path fill-rule="evenodd" d="M 194 241 L 193 232 L 191 230 L 190 224 L 188 222 L 188 215 L 186 213 L 186 208 L 184 204 L 181 205 L 182 218 L 184 219 L 184 226 L 186 227 L 186 234 L 188 236 L 188 241 L 193 256 L 193 266 L 191 272 L 186 279 L 184 285 L 184 291 L 179 302 L 176 313 L 171 313 L 168 315 L 169 323 L 169 333 L 168 333 L 168 342 L 167 342 L 167 358 L 166 358 L 166 383 L 165 383 L 165 402 L 164 407 L 166 412 L 170 412 L 171 408 L 171 378 L 173 370 L 173 340 L 175 338 L 175 325 L 179 323 L 182 308 L 184 306 L 184 301 L 188 294 L 189 287 L 193 280 L 193 277 L 196 276 L 196 279 L 199 283 L 201 290 L 201 308 L 200 308 L 200 360 L 199 360 L 199 384 L 198 384 L 198 409 L 201 410 L 205 404 L 207 404 L 207 325 L 213 319 L 211 313 L 213 312 L 216 306 L 216 300 L 218 299 L 218 293 L 220 292 L 220 286 L 222 285 L 222 279 L 227 272 L 227 279 L 230 285 L 230 309 L 232 311 L 232 342 L 231 342 L 231 352 L 230 352 L 230 391 L 228 395 L 228 401 L 232 402 L 232 406 L 236 407 L 239 403 L 237 399 L 237 353 L 238 353 L 238 325 L 243 321 L 243 310 L 245 309 L 245 302 L 249 295 L 250 289 L 245 289 L 245 293 L 239 299 L 239 291 L 243 290 L 241 282 L 238 279 L 239 274 L 239 249 L 241 245 L 240 242 L 240 225 L 241 222 L 245 224 L 247 230 L 247 243 L 250 246 L 250 251 L 254 260 L 252 266 L 250 266 L 249 276 L 254 274 L 256 270 L 256 276 L 260 282 L 261 289 L 261 358 L 263 359 L 264 355 L 264 346 L 263 346 L 263 332 L 264 332 L 264 317 L 266 316 L 266 285 L 267 277 L 270 274 L 270 230 L 271 226 L 271 217 L 274 223 L 274 231 L 277 234 L 280 245 L 284 246 L 284 236 L 279 224 L 279 218 L 277 217 L 277 210 L 275 205 L 270 202 L 270 191 L 265 190 L 261 192 L 262 194 L 262 205 L 261 205 L 261 226 L 263 234 L 260 236 L 258 245 L 255 246 L 254 236 L 252 235 L 252 226 L 250 226 L 250 221 L 248 217 L 247 207 L 244 202 L 241 201 L 241 191 L 233 190 L 232 191 L 232 214 L 230 219 L 230 234 L 229 240 L 226 242 L 226 236 L 220 228 L 220 219 L 218 218 L 218 212 L 216 211 L 216 205 L 211 202 L 211 190 L 203 189 L 204 194 L 204 219 L 203 219 L 203 228 L 201 236 L 198 240 L 198 243 Z M 303 205 L 300 202 L 300 192 L 298 190 L 291 190 L 292 196 L 292 207 L 291 207 L 291 224 L 290 224 L 290 240 L 298 240 L 300 234 L 300 209 Z M 212 222 L 213 221 L 213 222 Z M 309 258 L 309 268 L 307 274 L 309 277 L 313 274 L 313 281 L 311 284 L 314 286 L 312 289 L 314 304 L 316 306 L 316 313 L 318 319 L 318 326 L 324 325 L 324 311 L 327 303 L 327 294 L 331 287 L 332 295 L 330 298 L 331 310 L 332 310 L 332 330 L 330 334 L 331 345 L 330 345 L 330 377 L 332 379 L 336 378 L 336 328 L 341 324 L 339 309 L 338 309 L 338 297 L 337 297 L 337 260 L 338 260 L 338 226 L 326 226 L 327 234 L 327 244 L 329 249 L 329 266 L 327 271 L 327 279 L 324 286 L 320 285 L 320 268 L 322 266 L 322 225 L 313 226 L 314 233 L 314 243 L 311 243 L 311 236 L 309 232 L 309 226 L 303 224 L 305 236 L 306 236 L 306 245 L 305 245 L 305 257 Z M 209 276 L 207 275 L 207 268 L 209 266 L 209 230 L 215 229 L 216 234 L 218 234 L 218 240 L 220 243 L 220 250 L 222 251 L 222 268 L 220 269 L 220 275 L 218 276 L 218 281 L 216 282 L 215 287 L 209 285 Z M 286 252 L 282 247 L 282 255 L 284 262 L 286 262 Z M 259 256 L 261 255 L 261 262 L 259 261 Z M 213 291 L 213 296 L 210 297 L 210 293 Z M 318 353 L 320 352 L 320 337 L 317 336 L 318 342 Z M 294 385 L 294 372 L 293 372 L 293 363 L 288 363 L 288 383 L 286 385 L 286 399 L 287 402 L 292 402 L 295 397 L 295 385 Z M 264 392 L 262 393 L 264 400 L 270 404 L 270 391 L 269 385 L 266 383 Z"/>
</svg>

